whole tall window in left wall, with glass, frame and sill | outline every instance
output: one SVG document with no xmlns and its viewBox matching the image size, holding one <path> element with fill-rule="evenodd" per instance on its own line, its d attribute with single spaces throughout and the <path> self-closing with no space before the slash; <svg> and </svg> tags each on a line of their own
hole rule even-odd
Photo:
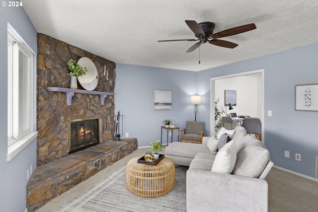
<svg viewBox="0 0 318 212">
<path fill-rule="evenodd" d="M 8 28 L 8 158 L 34 140 L 33 54 L 24 41 Z"/>
</svg>

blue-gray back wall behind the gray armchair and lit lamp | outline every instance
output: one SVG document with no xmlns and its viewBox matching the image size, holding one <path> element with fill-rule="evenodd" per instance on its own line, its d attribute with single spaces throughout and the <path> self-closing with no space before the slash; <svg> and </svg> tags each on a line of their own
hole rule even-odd
<svg viewBox="0 0 318 212">
<path fill-rule="evenodd" d="M 139 147 L 147 146 L 160 140 L 164 119 L 170 119 L 180 129 L 185 127 L 187 120 L 194 121 L 190 96 L 196 94 L 195 76 L 193 71 L 117 64 L 115 114 L 120 111 L 123 115 L 123 136 L 129 133 L 129 138 L 138 139 Z M 153 109 L 154 89 L 172 90 L 172 110 Z M 166 130 L 162 131 L 162 136 L 162 142 L 166 143 Z M 174 130 L 173 141 L 177 139 L 177 130 Z"/>
</svg>

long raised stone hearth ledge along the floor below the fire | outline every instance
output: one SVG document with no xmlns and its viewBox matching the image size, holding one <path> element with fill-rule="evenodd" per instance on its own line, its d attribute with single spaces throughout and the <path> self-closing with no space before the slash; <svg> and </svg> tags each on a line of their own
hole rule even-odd
<svg viewBox="0 0 318 212">
<path fill-rule="evenodd" d="M 110 141 L 38 167 L 27 184 L 27 209 L 48 201 L 137 149 L 137 139 Z"/>
</svg>

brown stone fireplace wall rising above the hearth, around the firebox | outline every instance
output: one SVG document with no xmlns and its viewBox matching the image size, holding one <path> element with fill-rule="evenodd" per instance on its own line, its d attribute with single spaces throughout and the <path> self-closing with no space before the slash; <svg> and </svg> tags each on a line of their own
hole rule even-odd
<svg viewBox="0 0 318 212">
<path fill-rule="evenodd" d="M 67 75 L 67 63 L 70 59 L 77 61 L 81 57 L 91 59 L 97 68 L 99 81 L 95 91 L 114 92 L 115 63 L 50 36 L 38 34 L 38 166 L 73 152 L 73 147 L 69 146 L 69 120 L 97 118 L 98 143 L 114 140 L 113 96 L 107 95 L 104 105 L 101 105 L 99 95 L 75 93 L 72 105 L 67 105 L 65 92 L 54 92 L 49 89 L 49 87 L 70 88 L 71 77 Z M 104 76 L 104 68 L 108 71 L 108 77 Z M 83 89 L 80 84 L 78 86 L 78 89 Z M 81 148 L 86 144 L 76 145 Z"/>
</svg>

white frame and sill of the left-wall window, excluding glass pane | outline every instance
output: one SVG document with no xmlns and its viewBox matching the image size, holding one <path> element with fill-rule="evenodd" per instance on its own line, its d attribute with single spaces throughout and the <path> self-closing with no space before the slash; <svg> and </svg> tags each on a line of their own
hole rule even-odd
<svg viewBox="0 0 318 212">
<path fill-rule="evenodd" d="M 37 137 L 35 131 L 35 117 L 34 117 L 34 100 L 35 100 L 35 86 L 34 82 L 34 57 L 35 53 L 21 38 L 21 36 L 8 23 L 7 28 L 7 52 L 8 52 L 8 151 L 7 161 L 10 161 L 17 155 L 25 146 Z M 18 132 L 19 127 L 19 51 L 27 57 L 27 81 L 26 81 L 26 129 Z"/>
</svg>

